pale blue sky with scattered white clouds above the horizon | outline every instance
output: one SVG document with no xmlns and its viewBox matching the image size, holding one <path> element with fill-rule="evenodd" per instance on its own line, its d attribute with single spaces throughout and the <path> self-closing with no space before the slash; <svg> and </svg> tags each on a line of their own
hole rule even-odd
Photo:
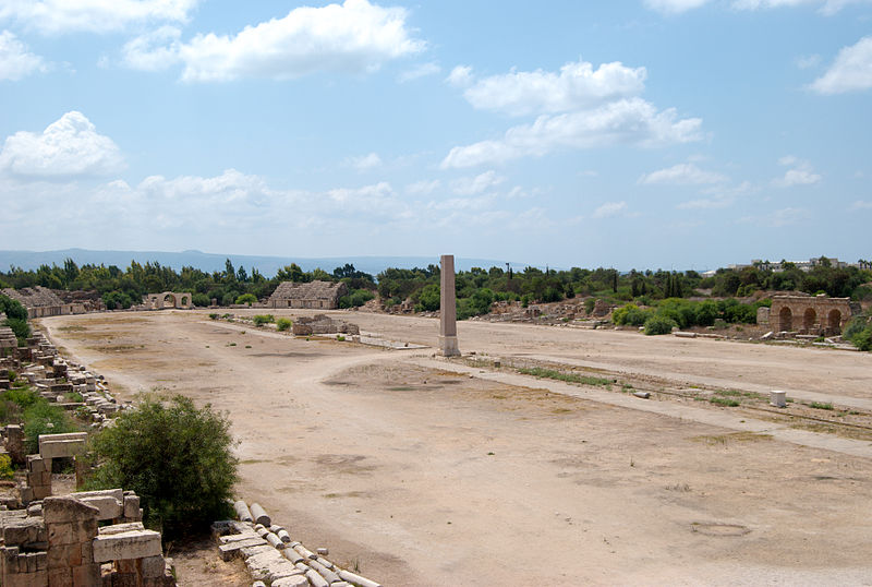
<svg viewBox="0 0 872 587">
<path fill-rule="evenodd" d="M 0 249 L 872 259 L 872 0 L 0 0 Z"/>
</svg>

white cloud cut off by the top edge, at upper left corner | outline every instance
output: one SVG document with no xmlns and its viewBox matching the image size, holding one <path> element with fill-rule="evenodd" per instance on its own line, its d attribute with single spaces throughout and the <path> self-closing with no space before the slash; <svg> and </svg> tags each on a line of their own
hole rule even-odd
<svg viewBox="0 0 872 587">
<path fill-rule="evenodd" d="M 186 22 L 198 0 L 4 0 L 0 20 L 44 34 L 106 33 L 135 23 Z"/>
</svg>

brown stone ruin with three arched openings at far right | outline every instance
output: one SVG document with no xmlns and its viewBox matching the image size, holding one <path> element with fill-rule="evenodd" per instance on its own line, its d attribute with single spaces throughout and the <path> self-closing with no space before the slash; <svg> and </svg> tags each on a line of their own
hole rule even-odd
<svg viewBox="0 0 872 587">
<path fill-rule="evenodd" d="M 841 334 L 841 328 L 859 311 L 849 298 L 776 296 L 772 299 L 768 323 L 776 332 L 835 336 Z"/>
</svg>

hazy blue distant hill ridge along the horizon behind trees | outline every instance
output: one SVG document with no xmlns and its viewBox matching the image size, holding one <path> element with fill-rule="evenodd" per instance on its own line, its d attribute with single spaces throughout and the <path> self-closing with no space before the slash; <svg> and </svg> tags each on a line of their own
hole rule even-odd
<svg viewBox="0 0 872 587">
<path fill-rule="evenodd" d="M 77 265 L 85 264 L 116 265 L 122 269 L 130 266 L 131 261 L 145 263 L 158 262 L 164 266 L 180 271 L 183 266 L 196 267 L 205 272 L 223 271 L 225 261 L 230 259 L 233 266 L 244 266 L 249 272 L 256 267 L 266 277 L 276 275 L 284 265 L 296 263 L 303 271 L 320 267 L 327 273 L 332 273 L 336 267 L 351 263 L 354 268 L 376 275 L 388 267 L 412 268 L 438 265 L 439 257 L 434 256 L 336 256 L 336 257 L 291 257 L 291 256 L 257 256 L 237 254 L 214 254 L 201 251 L 182 251 L 180 253 L 166 251 L 90 251 L 86 249 L 65 249 L 63 251 L 0 251 L 0 271 L 7 272 L 10 266 L 23 269 L 36 269 L 39 265 L 63 265 L 65 259 L 72 259 Z M 456 257 L 457 269 L 467 271 L 472 267 L 489 268 L 493 266 L 505 267 L 506 261 L 493 259 L 464 259 Z M 524 263 L 512 262 L 511 266 L 522 269 Z"/>
</svg>

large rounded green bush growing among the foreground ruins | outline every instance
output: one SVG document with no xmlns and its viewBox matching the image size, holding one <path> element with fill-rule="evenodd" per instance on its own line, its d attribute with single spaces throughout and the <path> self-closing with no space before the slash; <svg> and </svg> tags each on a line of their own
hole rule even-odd
<svg viewBox="0 0 872 587">
<path fill-rule="evenodd" d="M 146 523 L 174 538 L 228 516 L 238 480 L 232 445 L 230 420 L 209 405 L 146 398 L 94 439 L 100 464 L 88 486 L 135 491 Z"/>
</svg>

